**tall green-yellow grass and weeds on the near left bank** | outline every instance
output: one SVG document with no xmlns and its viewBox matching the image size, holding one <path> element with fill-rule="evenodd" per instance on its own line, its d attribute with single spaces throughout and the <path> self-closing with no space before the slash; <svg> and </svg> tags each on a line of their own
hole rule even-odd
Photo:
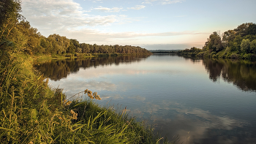
<svg viewBox="0 0 256 144">
<path fill-rule="evenodd" d="M 125 111 L 99 107 L 95 99 L 67 101 L 33 69 L 34 58 L 0 54 L 0 143 L 167 143 Z"/>
</svg>

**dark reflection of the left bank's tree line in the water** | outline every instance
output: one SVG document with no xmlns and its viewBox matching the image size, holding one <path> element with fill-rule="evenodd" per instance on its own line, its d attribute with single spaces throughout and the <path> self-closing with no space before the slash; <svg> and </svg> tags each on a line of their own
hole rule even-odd
<svg viewBox="0 0 256 144">
<path fill-rule="evenodd" d="M 131 64 L 132 62 L 141 61 L 143 58 L 148 58 L 148 56 L 150 55 L 137 54 L 129 56 L 53 60 L 43 64 L 34 64 L 34 67 L 45 75 L 45 77 L 56 81 L 67 77 L 70 73 L 78 72 L 80 68 L 86 69 L 89 67 L 106 66 L 111 64 Z"/>
</svg>

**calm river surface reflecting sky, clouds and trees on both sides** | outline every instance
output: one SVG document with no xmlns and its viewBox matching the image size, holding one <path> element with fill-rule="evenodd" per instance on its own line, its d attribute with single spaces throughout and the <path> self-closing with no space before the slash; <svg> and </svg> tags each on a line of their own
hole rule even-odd
<svg viewBox="0 0 256 144">
<path fill-rule="evenodd" d="M 35 65 L 67 96 L 88 88 L 178 143 L 256 143 L 256 64 L 171 55 Z"/>
</svg>

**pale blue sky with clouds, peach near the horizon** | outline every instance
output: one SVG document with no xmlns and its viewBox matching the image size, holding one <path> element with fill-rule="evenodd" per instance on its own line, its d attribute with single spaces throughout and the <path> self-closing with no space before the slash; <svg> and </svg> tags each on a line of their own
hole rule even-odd
<svg viewBox="0 0 256 144">
<path fill-rule="evenodd" d="M 22 0 L 45 37 L 148 50 L 202 48 L 214 31 L 256 23 L 255 0 Z"/>
</svg>

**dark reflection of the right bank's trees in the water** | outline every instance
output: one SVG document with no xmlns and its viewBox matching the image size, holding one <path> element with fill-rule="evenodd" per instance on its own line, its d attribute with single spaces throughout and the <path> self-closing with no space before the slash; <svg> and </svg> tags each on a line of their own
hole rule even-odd
<svg viewBox="0 0 256 144">
<path fill-rule="evenodd" d="M 255 62 L 203 59 L 203 65 L 206 67 L 209 78 L 214 82 L 222 78 L 242 91 L 256 91 Z"/>
</svg>

